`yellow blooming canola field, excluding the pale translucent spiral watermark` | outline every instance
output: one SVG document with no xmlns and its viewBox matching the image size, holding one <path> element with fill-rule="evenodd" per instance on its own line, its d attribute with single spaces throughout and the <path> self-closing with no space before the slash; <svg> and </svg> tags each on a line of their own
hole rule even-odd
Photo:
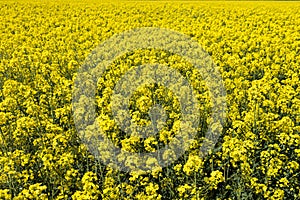
<svg viewBox="0 0 300 200">
<path fill-rule="evenodd" d="M 166 126 L 147 138 L 120 131 L 110 97 L 129 69 L 176 69 L 201 105 L 196 137 L 183 155 L 168 166 L 152 159 L 151 170 L 122 171 L 97 159 L 76 129 L 74 119 L 85 111 L 73 112 L 74 82 L 100 43 L 141 27 L 180 32 L 205 49 L 223 80 L 226 116 L 214 148 L 201 155 L 213 83 L 163 50 L 122 55 L 99 78 L 93 102 L 115 146 L 155 152 L 181 120 L 172 91 L 148 84 L 133 93 L 129 114 L 135 124 L 149 124 L 147 113 L 159 102 Z M 300 199 L 299 79 L 297 2 L 1 1 L 0 199 Z M 129 169 L 138 165 L 127 161 Z"/>
</svg>

